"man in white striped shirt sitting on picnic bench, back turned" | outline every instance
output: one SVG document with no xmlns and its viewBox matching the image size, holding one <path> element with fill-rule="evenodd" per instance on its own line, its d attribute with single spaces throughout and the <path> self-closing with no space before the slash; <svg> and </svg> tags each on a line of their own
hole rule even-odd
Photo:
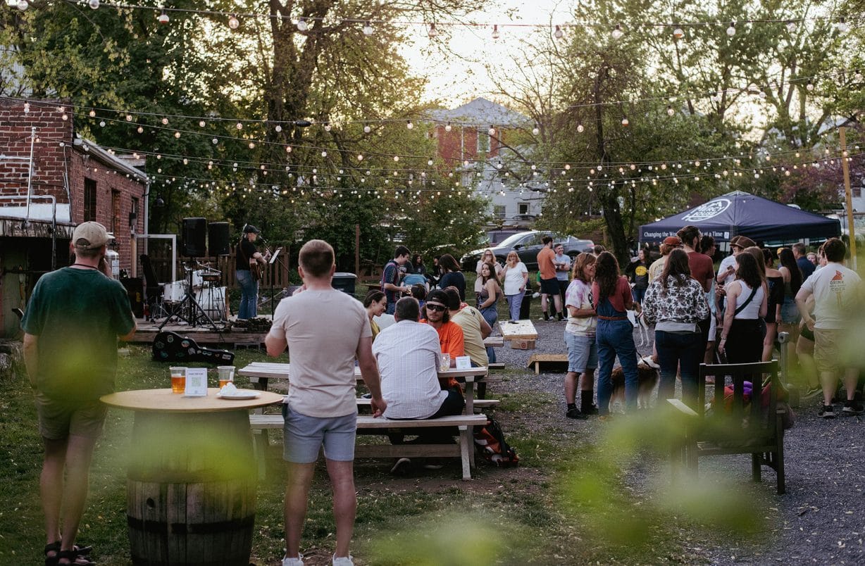
<svg viewBox="0 0 865 566">
<path fill-rule="evenodd" d="M 458 415 L 465 399 L 458 388 L 439 386 L 439 333 L 418 322 L 420 306 L 413 297 L 396 303 L 396 324 L 381 331 L 373 355 L 381 372 L 381 396 L 387 418 L 435 418 Z"/>
</svg>

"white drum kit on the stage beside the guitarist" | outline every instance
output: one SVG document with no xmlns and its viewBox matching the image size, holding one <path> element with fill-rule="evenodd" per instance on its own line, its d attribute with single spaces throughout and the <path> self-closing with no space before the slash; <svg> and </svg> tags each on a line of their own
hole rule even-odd
<svg viewBox="0 0 865 566">
<path fill-rule="evenodd" d="M 183 270 L 187 273 L 183 280 L 165 283 L 163 308 L 168 318 L 159 328 L 172 318 L 193 327 L 206 323 L 215 326 L 215 321 L 227 321 L 226 288 L 220 285 L 222 272 L 198 261 L 189 262 Z"/>
</svg>

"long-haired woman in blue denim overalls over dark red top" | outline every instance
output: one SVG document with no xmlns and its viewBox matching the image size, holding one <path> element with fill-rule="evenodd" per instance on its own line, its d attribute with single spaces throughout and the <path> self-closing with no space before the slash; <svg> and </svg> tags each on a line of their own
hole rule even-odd
<svg viewBox="0 0 865 566">
<path fill-rule="evenodd" d="M 598 329 L 595 341 L 598 344 L 598 411 L 601 418 L 610 414 L 612 396 L 612 365 L 618 362 L 625 372 L 625 407 L 637 409 L 637 347 L 634 346 L 634 328 L 625 310 L 633 307 L 631 285 L 618 271 L 618 261 L 609 251 L 602 251 L 595 264 L 592 283 L 595 312 L 598 314 Z"/>
</svg>

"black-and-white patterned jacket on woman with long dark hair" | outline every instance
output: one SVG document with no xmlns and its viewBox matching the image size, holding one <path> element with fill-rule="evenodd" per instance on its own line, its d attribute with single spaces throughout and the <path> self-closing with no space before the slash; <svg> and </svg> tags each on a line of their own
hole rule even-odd
<svg viewBox="0 0 865 566">
<path fill-rule="evenodd" d="M 676 283 L 676 277 L 670 276 L 666 291 L 657 280 L 650 283 L 643 299 L 646 322 L 699 322 L 708 318 L 706 293 L 700 283 L 690 277 L 684 284 Z"/>
</svg>

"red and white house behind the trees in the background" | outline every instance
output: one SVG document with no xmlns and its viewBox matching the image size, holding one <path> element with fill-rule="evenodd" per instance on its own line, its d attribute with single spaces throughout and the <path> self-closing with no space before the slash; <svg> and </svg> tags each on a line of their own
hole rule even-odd
<svg viewBox="0 0 865 566">
<path fill-rule="evenodd" d="M 438 141 L 439 158 L 461 172 L 464 185 L 474 185 L 477 193 L 490 201 L 489 213 L 496 226 L 530 227 L 541 213 L 543 194 L 520 188 L 516 181 L 503 184 L 497 166 L 508 154 L 513 156 L 507 147 L 509 134 L 517 128 L 530 128 L 531 120 L 487 99 L 474 99 L 453 110 L 435 110 L 428 115 L 436 122 L 430 135 Z"/>
</svg>

